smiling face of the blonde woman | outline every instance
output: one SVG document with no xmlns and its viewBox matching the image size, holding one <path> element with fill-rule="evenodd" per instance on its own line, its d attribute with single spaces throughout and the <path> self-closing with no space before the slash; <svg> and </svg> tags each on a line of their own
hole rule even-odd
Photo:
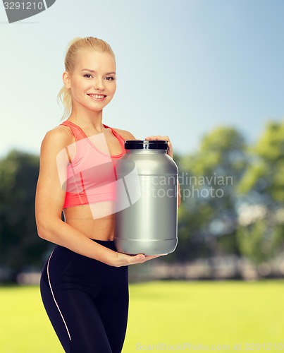
<svg viewBox="0 0 284 353">
<path fill-rule="evenodd" d="M 116 92 L 116 63 L 111 54 L 95 50 L 80 51 L 77 60 L 71 76 L 63 74 L 73 105 L 99 112 Z"/>
</svg>

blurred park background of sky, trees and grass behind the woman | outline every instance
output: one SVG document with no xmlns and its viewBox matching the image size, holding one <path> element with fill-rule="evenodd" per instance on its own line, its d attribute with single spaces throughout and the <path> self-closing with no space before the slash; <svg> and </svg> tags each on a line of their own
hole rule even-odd
<svg viewBox="0 0 284 353">
<path fill-rule="evenodd" d="M 1 352 L 61 352 L 37 286 L 53 245 L 35 186 L 67 44 L 89 35 L 116 53 L 104 122 L 170 136 L 180 170 L 178 248 L 130 268 L 123 352 L 284 350 L 283 14 L 280 0 L 57 0 L 9 24 L 0 7 Z"/>
</svg>

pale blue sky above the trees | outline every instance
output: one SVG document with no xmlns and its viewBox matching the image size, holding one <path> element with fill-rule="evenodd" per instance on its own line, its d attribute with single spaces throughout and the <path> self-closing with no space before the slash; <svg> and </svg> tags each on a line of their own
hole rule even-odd
<svg viewBox="0 0 284 353">
<path fill-rule="evenodd" d="M 56 0 L 9 24 L 0 4 L 0 155 L 39 153 L 60 124 L 67 44 L 89 35 L 116 53 L 104 124 L 168 135 L 180 153 L 216 126 L 254 142 L 266 121 L 284 117 L 283 16 L 282 0 Z"/>
</svg>

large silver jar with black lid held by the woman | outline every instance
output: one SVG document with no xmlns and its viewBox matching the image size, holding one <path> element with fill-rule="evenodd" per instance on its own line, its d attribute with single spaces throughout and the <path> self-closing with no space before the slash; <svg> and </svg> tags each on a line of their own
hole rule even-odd
<svg viewBox="0 0 284 353">
<path fill-rule="evenodd" d="M 126 140 L 116 164 L 114 241 L 121 253 L 172 253 L 178 244 L 178 167 L 164 140 Z"/>
</svg>

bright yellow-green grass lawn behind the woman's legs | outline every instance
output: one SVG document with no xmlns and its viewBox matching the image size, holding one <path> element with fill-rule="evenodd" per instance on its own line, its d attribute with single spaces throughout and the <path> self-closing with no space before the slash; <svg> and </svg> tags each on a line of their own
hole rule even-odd
<svg viewBox="0 0 284 353">
<path fill-rule="evenodd" d="M 283 280 L 130 285 L 123 353 L 284 353 L 283 297 Z M 63 352 L 38 287 L 1 287 L 0 315 L 1 353 Z"/>
</svg>

